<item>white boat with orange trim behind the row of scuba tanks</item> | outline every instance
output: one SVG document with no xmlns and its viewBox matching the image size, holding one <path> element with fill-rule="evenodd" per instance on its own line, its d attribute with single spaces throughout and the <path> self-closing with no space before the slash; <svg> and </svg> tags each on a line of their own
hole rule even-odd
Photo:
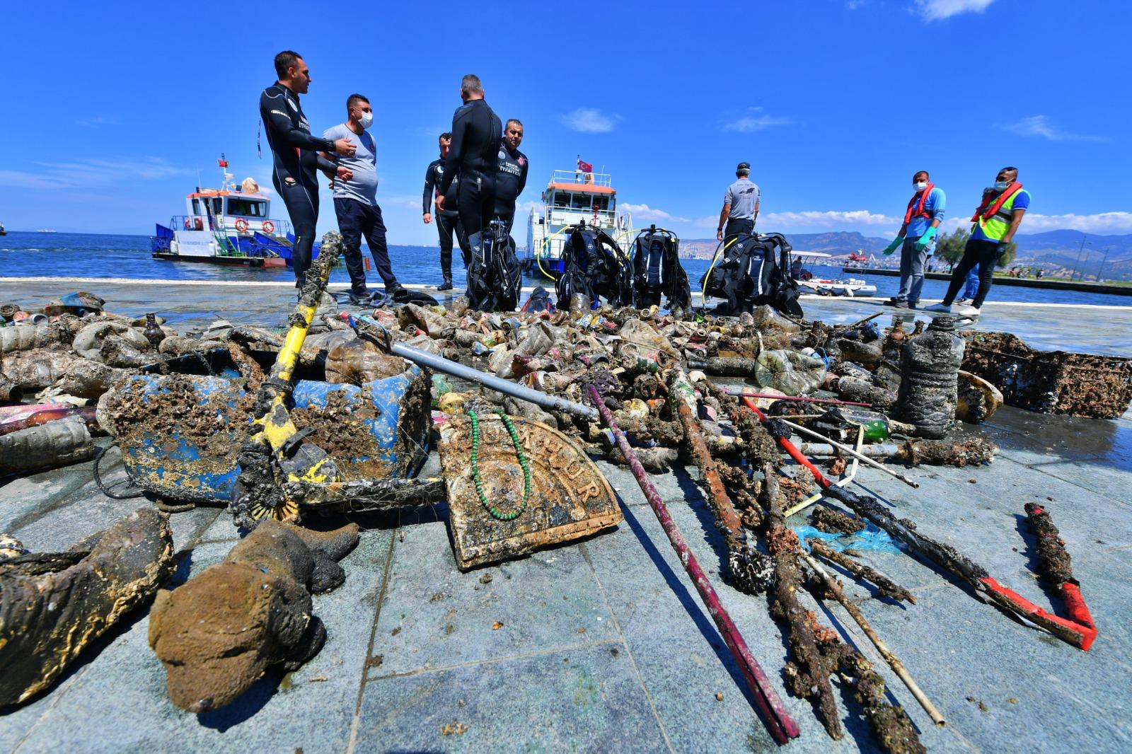
<svg viewBox="0 0 1132 754">
<path fill-rule="evenodd" d="M 603 230 L 623 251 L 629 252 L 633 217 L 617 214 L 612 177 L 593 172 L 593 165 L 581 160 L 575 170 L 554 171 L 542 191 L 542 207 L 531 209 L 526 250 L 520 258 L 523 273 L 557 280 L 563 274 L 568 229 L 578 224 Z"/>
</svg>

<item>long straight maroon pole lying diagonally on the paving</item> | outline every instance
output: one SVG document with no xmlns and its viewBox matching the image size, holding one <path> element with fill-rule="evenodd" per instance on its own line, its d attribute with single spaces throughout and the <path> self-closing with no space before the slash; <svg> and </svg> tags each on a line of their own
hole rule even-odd
<svg viewBox="0 0 1132 754">
<path fill-rule="evenodd" d="M 707 581 L 707 575 L 700 567 L 700 563 L 696 562 L 688 543 L 684 541 L 680 530 L 676 528 L 676 523 L 668 513 L 664 502 L 660 499 L 657 488 L 649 481 L 649 474 L 641 465 L 641 461 L 636 457 L 633 448 L 629 447 L 628 440 L 625 439 L 620 427 L 614 420 L 614 414 L 606 408 L 606 403 L 601 400 L 601 394 L 598 393 L 597 387 L 586 385 L 585 392 L 593 401 L 593 404 L 598 406 L 598 412 L 601 414 L 601 420 L 606 423 L 606 427 L 614 434 L 617 447 L 620 448 L 628 461 L 633 477 L 636 478 L 637 485 L 641 486 L 641 491 L 644 492 L 645 498 L 649 500 L 652 512 L 657 514 L 657 520 L 660 521 L 664 533 L 668 534 L 668 541 L 671 542 L 672 549 L 676 550 L 680 563 L 684 564 L 684 569 L 692 577 L 692 583 L 695 584 L 696 591 L 700 592 L 700 599 L 703 600 L 712 620 L 715 622 L 715 627 L 719 628 L 720 635 L 727 643 L 728 649 L 731 650 L 731 656 L 738 663 L 739 670 L 743 671 L 743 676 L 747 680 L 747 687 L 755 697 L 755 704 L 762 713 L 766 729 L 779 744 L 786 744 L 789 739 L 796 738 L 799 734 L 798 723 L 786 711 L 782 700 L 774 691 L 774 687 L 771 686 L 766 674 L 763 672 L 763 669 L 758 667 L 758 662 L 752 657 L 751 650 L 747 649 L 747 643 L 743 640 L 743 634 L 739 633 L 738 627 L 731 622 L 731 617 L 719 601 L 719 596 L 715 594 L 711 582 Z"/>
</svg>

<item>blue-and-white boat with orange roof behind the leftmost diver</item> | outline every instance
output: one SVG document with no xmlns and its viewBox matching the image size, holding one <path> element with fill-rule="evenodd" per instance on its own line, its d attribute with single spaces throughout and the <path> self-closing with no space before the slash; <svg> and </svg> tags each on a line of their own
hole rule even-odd
<svg viewBox="0 0 1132 754">
<path fill-rule="evenodd" d="M 157 224 L 149 237 L 154 259 L 246 267 L 286 267 L 294 234 L 291 223 L 271 216 L 271 197 L 250 178 L 233 182 L 224 155 L 218 189 L 197 187 L 186 196 L 188 214 Z"/>
</svg>

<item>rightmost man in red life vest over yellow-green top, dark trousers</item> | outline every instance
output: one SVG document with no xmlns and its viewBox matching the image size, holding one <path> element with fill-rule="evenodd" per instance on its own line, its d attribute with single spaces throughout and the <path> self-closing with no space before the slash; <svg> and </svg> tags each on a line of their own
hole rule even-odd
<svg viewBox="0 0 1132 754">
<path fill-rule="evenodd" d="M 1018 168 L 1003 168 L 998 171 L 994 188 L 983 191 L 983 203 L 971 217 L 971 238 L 963 249 L 963 258 L 951 272 L 951 285 L 943 301 L 927 307 L 928 311 L 951 312 L 951 305 L 963 285 L 963 279 L 972 267 L 979 267 L 979 289 L 970 306 L 963 306 L 955 314 L 964 317 L 978 316 L 983 302 L 990 290 L 994 268 L 1010 245 L 1022 215 L 1030 206 L 1030 192 L 1018 182 Z"/>
</svg>

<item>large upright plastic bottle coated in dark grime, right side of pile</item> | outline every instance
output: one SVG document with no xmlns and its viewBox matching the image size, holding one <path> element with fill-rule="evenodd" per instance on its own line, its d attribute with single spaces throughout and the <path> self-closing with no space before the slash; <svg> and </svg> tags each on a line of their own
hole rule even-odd
<svg viewBox="0 0 1132 754">
<path fill-rule="evenodd" d="M 936 317 L 904 343 L 897 413 L 916 427 L 918 437 L 938 439 L 955 423 L 964 345 L 952 317 Z"/>
</svg>

